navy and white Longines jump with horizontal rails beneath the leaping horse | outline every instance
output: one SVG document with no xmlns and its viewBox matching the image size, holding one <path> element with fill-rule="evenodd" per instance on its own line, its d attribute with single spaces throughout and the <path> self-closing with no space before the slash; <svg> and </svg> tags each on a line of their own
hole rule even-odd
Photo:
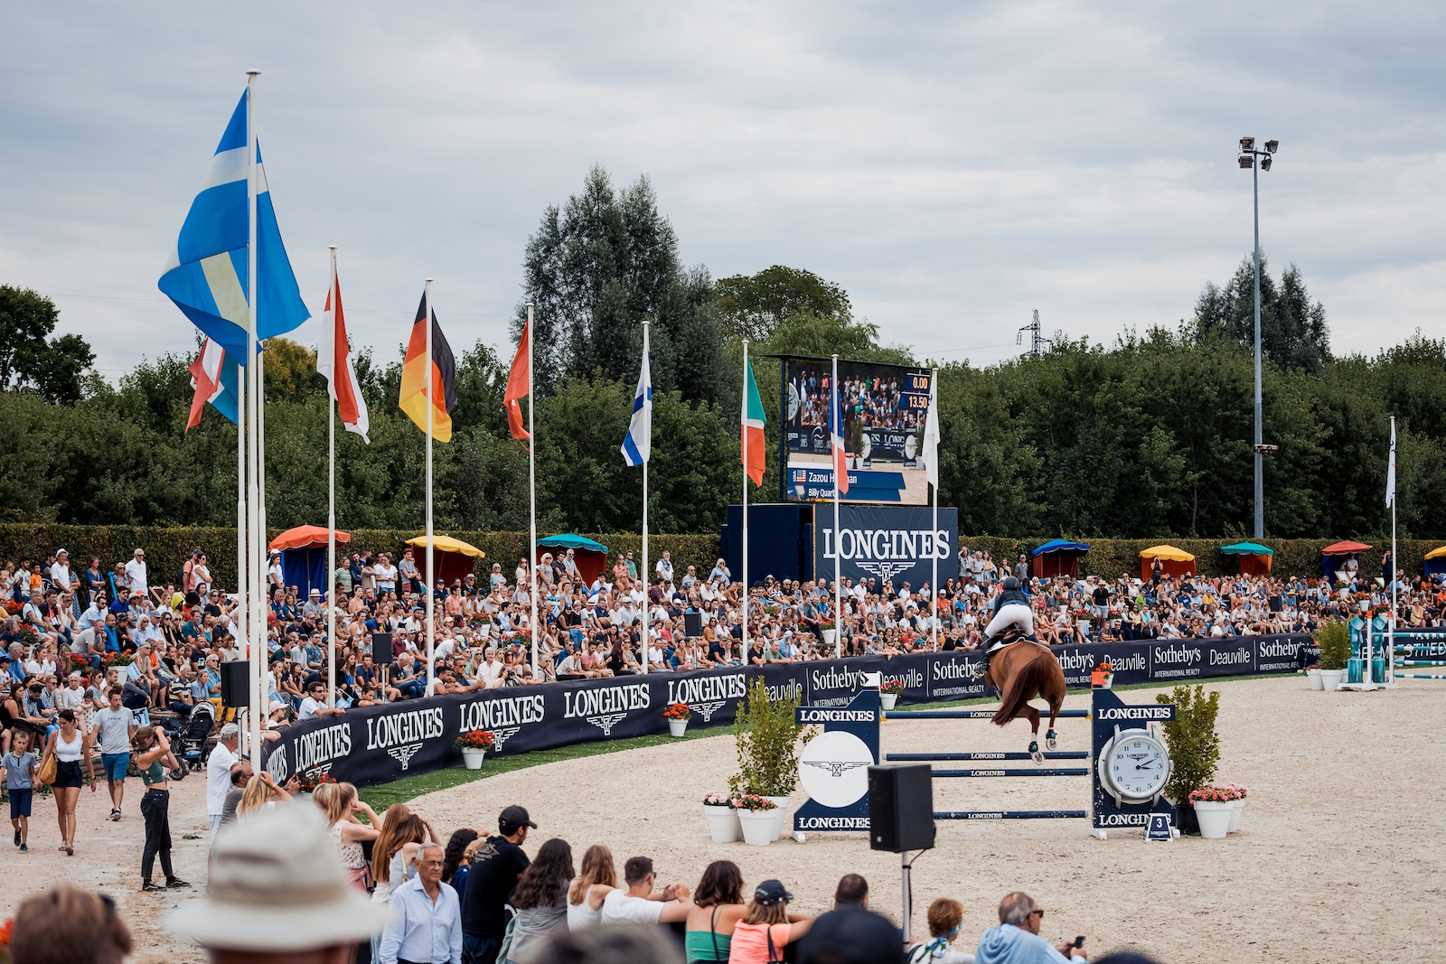
<svg viewBox="0 0 1446 964">
<path fill-rule="evenodd" d="M 969 762 L 1005 763 L 1028 760 L 1024 752 L 951 752 L 951 753 L 889 753 L 879 754 L 879 723 L 882 720 L 991 720 L 993 710 L 905 710 L 884 713 L 879 702 L 878 675 L 865 676 L 865 685 L 847 707 L 798 707 L 795 721 L 823 726 L 823 733 L 808 741 L 800 754 L 798 776 L 808 799 L 794 814 L 794 831 L 868 831 L 869 779 L 868 767 L 888 762 Z M 1092 785 L 1089 809 L 969 809 L 934 811 L 934 819 L 1090 819 L 1092 834 L 1105 840 L 1111 830 L 1145 828 L 1152 815 L 1163 815 L 1174 824 L 1174 808 L 1164 798 L 1141 802 L 1116 798 L 1100 780 L 1096 762 L 1116 731 L 1138 728 L 1139 724 L 1176 718 L 1173 704 L 1125 705 L 1109 689 L 1093 691 L 1090 710 L 1064 710 L 1060 717 L 1089 718 L 1092 750 L 1063 750 L 1045 753 L 1045 760 L 1089 760 L 1089 766 L 985 766 L 970 769 L 936 769 L 943 779 L 991 779 L 1037 776 L 1089 776 Z"/>
</svg>

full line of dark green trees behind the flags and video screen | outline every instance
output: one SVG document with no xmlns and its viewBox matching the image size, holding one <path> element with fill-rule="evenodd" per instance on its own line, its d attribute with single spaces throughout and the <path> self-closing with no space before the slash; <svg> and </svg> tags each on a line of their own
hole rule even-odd
<svg viewBox="0 0 1446 964">
<path fill-rule="evenodd" d="M 1262 264 L 1265 526 L 1280 538 L 1379 533 L 1390 416 L 1397 416 L 1403 536 L 1446 538 L 1446 341 L 1419 332 L 1374 357 L 1330 351 L 1326 312 L 1288 266 Z M 778 493 L 779 369 L 769 354 L 927 366 L 884 344 L 847 292 L 772 266 L 713 279 L 687 266 L 646 178 L 617 189 L 600 168 L 544 212 L 523 251 L 536 317 L 539 532 L 641 526 L 639 470 L 619 447 L 652 322 L 654 452 L 649 526 L 716 532 L 742 496 L 739 396 L 749 338 L 768 409 L 769 464 L 750 499 Z M 236 431 L 207 408 L 184 432 L 191 353 L 137 364 L 117 384 L 58 312 L 0 286 L 0 513 L 81 525 L 231 525 Z M 445 324 L 445 319 L 444 319 Z M 941 504 L 966 533 L 1154 538 L 1245 535 L 1254 517 L 1254 267 L 1207 283 L 1176 325 L 1113 344 L 1056 332 L 1048 351 L 988 367 L 940 366 Z M 528 525 L 526 451 L 506 428 L 510 347 L 477 343 L 457 363 L 457 410 L 437 445 L 438 528 Z M 324 523 L 327 393 L 315 350 L 266 348 L 268 523 Z M 370 439 L 337 435 L 337 522 L 422 525 L 425 439 L 398 410 L 401 356 L 357 350 Z"/>
</svg>

